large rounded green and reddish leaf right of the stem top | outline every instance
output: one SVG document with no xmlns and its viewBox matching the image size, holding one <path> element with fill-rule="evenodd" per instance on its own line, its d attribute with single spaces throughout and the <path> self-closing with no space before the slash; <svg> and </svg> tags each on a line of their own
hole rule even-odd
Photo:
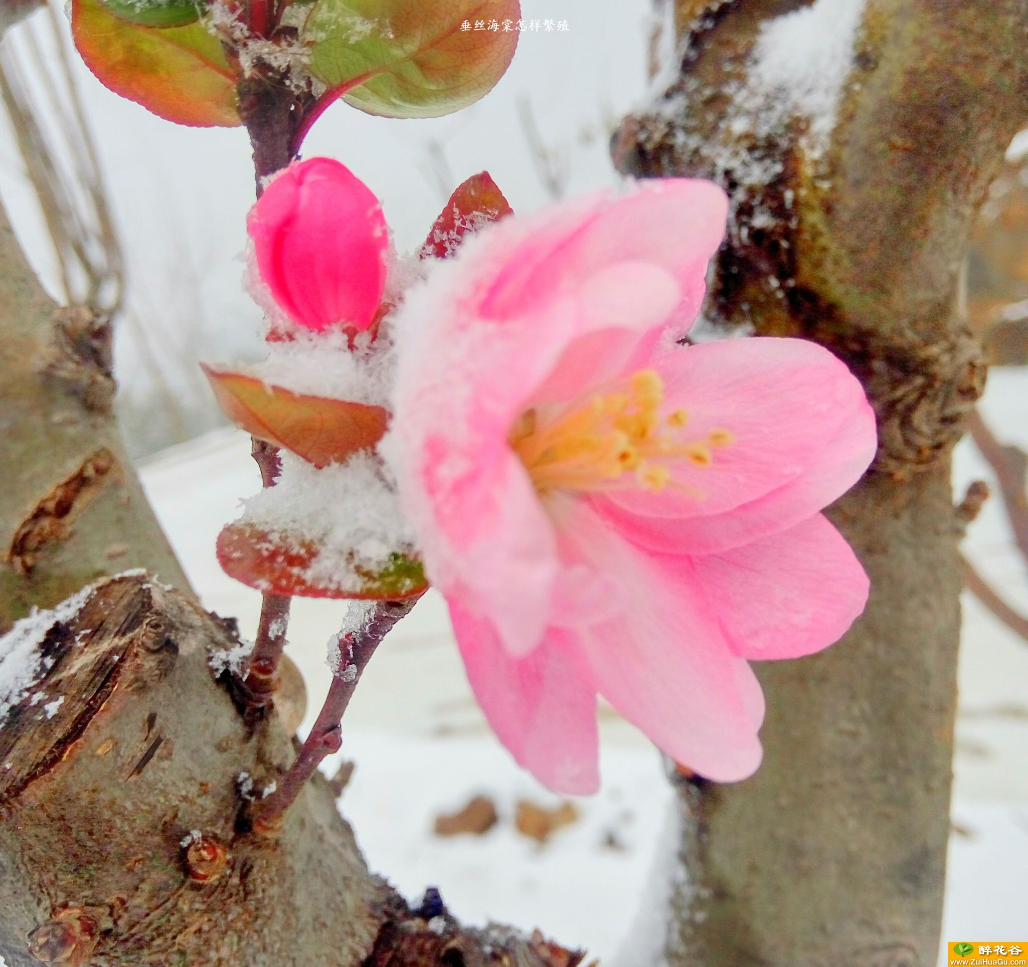
<svg viewBox="0 0 1028 967">
<path fill-rule="evenodd" d="M 310 71 L 327 98 L 369 114 L 440 117 L 503 77 L 518 38 L 503 25 L 520 14 L 518 0 L 318 0 L 304 28 L 315 41 Z"/>
</svg>

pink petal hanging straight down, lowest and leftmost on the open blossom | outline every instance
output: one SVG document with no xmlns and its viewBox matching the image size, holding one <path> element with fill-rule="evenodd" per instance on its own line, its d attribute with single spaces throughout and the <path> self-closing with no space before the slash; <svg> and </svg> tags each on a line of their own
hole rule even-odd
<svg viewBox="0 0 1028 967">
<path fill-rule="evenodd" d="M 449 599 L 471 687 L 500 741 L 544 786 L 566 795 L 599 788 L 596 695 L 562 632 L 514 658 L 488 621 Z"/>
</svg>

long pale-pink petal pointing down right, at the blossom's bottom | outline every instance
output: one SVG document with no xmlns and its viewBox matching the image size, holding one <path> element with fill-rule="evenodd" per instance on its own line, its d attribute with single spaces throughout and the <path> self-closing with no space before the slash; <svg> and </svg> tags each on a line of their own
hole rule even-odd
<svg viewBox="0 0 1028 967">
<path fill-rule="evenodd" d="M 566 547 L 614 577 L 632 603 L 577 631 L 596 690 L 676 762 L 719 782 L 751 775 L 763 703 L 690 560 L 631 546 L 581 501 L 562 524 Z"/>
</svg>

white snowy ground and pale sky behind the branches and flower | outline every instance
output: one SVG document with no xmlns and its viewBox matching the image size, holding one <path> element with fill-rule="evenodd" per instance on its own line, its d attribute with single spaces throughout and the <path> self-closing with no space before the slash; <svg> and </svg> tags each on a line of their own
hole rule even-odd
<svg viewBox="0 0 1028 967">
<path fill-rule="evenodd" d="M 820 0 L 817 7 L 819 19 L 808 26 L 837 38 L 833 28 L 853 21 L 859 3 Z M 523 34 L 508 75 L 472 109 L 439 120 L 392 121 L 339 104 L 308 138 L 307 154 L 338 157 L 381 198 L 401 248 L 419 243 L 451 188 L 482 169 L 519 211 L 614 180 L 607 141 L 613 121 L 647 86 L 649 0 L 523 0 L 523 8 L 527 17 L 565 19 L 570 30 Z M 807 35 L 805 49 L 812 42 Z M 824 47 L 836 49 L 828 35 Z M 825 64 L 827 73 L 840 61 L 845 48 Z M 787 59 L 767 70 L 788 75 Z M 196 403 L 176 431 L 195 436 L 215 422 L 195 359 L 252 351 L 259 323 L 240 284 L 253 199 L 246 136 L 169 124 L 104 89 L 80 65 L 76 79 L 124 244 L 130 308 L 145 332 L 119 332 L 123 392 L 138 413 L 150 414 L 154 383 L 163 380 Z M 52 279 L 38 212 L 6 137 L 0 195 L 34 265 Z M 984 407 L 1001 437 L 1028 446 L 1028 372 L 993 373 Z M 152 419 L 156 445 L 171 431 L 159 414 Z M 152 449 L 145 433 L 134 445 Z M 215 537 L 235 515 L 237 499 L 257 489 L 247 440 L 217 430 L 156 455 L 142 471 L 205 604 L 237 616 L 252 636 L 259 597 L 222 574 L 214 557 Z M 958 451 L 956 477 L 961 494 L 967 481 L 991 477 L 967 442 Z M 1028 611 L 1028 574 L 996 502 L 972 526 L 966 550 Z M 1024 935 L 1028 907 L 1028 645 L 965 599 L 945 938 L 1009 941 Z M 328 685 L 324 642 L 342 609 L 310 601 L 294 609 L 289 650 L 310 692 L 308 722 Z M 659 889 L 651 871 L 668 852 L 670 797 L 641 736 L 610 711 L 601 733 L 603 790 L 579 802 L 582 819 L 542 847 L 517 833 L 516 799 L 555 800 L 489 735 L 445 608 L 430 594 L 375 656 L 347 713 L 342 754 L 357 768 L 341 804 L 371 866 L 411 898 L 438 886 L 466 920 L 538 924 L 607 963 L 634 967 L 647 963 L 646 952 L 659 939 L 652 923 L 635 923 L 635 914 Z M 433 835 L 437 813 L 478 792 L 500 808 L 494 829 L 480 837 Z"/>
</svg>

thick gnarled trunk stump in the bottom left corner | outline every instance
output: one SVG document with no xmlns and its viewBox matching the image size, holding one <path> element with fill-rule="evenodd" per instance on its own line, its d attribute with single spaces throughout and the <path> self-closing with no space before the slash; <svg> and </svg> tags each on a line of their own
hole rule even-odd
<svg viewBox="0 0 1028 967">
<path fill-rule="evenodd" d="M 250 831 L 292 758 L 254 733 L 212 652 L 232 628 L 142 576 L 50 628 L 33 691 L 0 729 L 0 955 L 9 967 L 573 967 L 541 938 L 462 930 L 368 873 L 320 776 L 278 835 Z M 252 780 L 252 791 L 247 792 Z M 431 927 L 430 927 L 431 922 Z"/>
</svg>

